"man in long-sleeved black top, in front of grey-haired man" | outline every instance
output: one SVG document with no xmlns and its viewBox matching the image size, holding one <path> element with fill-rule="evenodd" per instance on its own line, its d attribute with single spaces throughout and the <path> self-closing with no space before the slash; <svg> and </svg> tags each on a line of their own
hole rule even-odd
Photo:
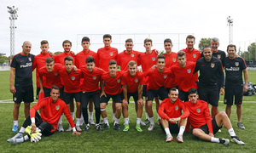
<svg viewBox="0 0 256 153">
<path fill-rule="evenodd" d="M 224 94 L 224 71 L 219 59 L 212 57 L 212 49 L 206 46 L 203 51 L 204 57 L 198 59 L 195 72 L 200 71 L 198 94 L 199 99 L 212 105 L 212 117 L 218 114 L 219 88 L 220 94 Z"/>
</svg>

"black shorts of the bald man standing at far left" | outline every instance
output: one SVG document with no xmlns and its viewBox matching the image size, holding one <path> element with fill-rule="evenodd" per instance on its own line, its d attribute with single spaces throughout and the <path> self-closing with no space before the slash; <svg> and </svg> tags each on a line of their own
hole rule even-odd
<svg viewBox="0 0 256 153">
<path fill-rule="evenodd" d="M 16 92 L 13 94 L 13 100 L 15 103 L 32 103 L 34 101 L 33 86 L 20 87 L 15 86 Z"/>
</svg>

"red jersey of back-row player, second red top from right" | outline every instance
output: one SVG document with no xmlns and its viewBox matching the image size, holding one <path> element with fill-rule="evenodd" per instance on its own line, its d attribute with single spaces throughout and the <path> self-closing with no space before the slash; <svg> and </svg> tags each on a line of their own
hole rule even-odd
<svg viewBox="0 0 256 153">
<path fill-rule="evenodd" d="M 171 68 L 172 65 L 177 63 L 177 53 L 172 52 L 172 54 L 164 54 L 166 57 L 166 67 Z M 165 82 L 165 88 L 173 88 L 177 86 L 177 81 L 175 77 L 168 77 Z"/>
</svg>

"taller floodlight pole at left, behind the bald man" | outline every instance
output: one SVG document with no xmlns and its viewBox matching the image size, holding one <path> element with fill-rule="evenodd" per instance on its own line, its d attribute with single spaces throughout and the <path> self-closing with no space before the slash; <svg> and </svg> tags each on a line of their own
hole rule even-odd
<svg viewBox="0 0 256 153">
<path fill-rule="evenodd" d="M 13 59 L 13 56 L 15 55 L 15 29 L 17 28 L 15 26 L 15 20 L 18 18 L 18 8 L 13 7 L 7 7 L 9 10 L 9 20 L 10 20 L 10 60 Z"/>
</svg>

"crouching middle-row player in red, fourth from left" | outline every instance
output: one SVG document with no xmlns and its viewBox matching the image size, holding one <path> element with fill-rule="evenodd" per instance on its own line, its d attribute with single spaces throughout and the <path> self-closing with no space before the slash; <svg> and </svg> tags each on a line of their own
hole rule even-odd
<svg viewBox="0 0 256 153">
<path fill-rule="evenodd" d="M 123 90 L 121 86 L 122 72 L 117 71 L 117 63 L 115 60 L 111 59 L 108 64 L 108 72 L 102 75 L 102 94 L 101 94 L 101 111 L 102 111 L 102 120 L 105 123 L 105 126 L 102 130 L 107 130 L 109 128 L 108 115 L 106 111 L 106 105 L 110 98 L 113 99 L 115 103 L 115 120 L 113 122 L 113 127 L 115 130 L 119 131 L 119 118 L 122 112 L 122 102 L 124 99 Z M 103 85 L 104 84 L 104 85 Z"/>
</svg>

